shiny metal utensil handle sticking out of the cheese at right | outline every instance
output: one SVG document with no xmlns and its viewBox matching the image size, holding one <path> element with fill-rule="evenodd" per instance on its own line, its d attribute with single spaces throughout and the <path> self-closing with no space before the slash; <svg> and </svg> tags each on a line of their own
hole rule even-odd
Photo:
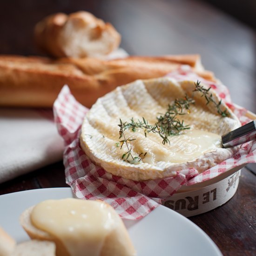
<svg viewBox="0 0 256 256">
<path fill-rule="evenodd" d="M 224 148 L 235 147 L 253 140 L 256 140 L 256 120 L 222 135 L 222 144 Z"/>
</svg>

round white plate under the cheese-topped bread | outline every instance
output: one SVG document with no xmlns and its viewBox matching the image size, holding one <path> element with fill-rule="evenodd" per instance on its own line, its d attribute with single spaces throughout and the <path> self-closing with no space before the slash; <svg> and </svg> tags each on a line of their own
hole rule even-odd
<svg viewBox="0 0 256 256">
<path fill-rule="evenodd" d="M 34 189 L 0 196 L 0 226 L 17 242 L 27 234 L 19 224 L 23 210 L 47 199 L 73 197 L 69 188 Z M 124 221 L 138 256 L 221 256 L 216 244 L 189 219 L 159 206 L 140 221 Z"/>
</svg>

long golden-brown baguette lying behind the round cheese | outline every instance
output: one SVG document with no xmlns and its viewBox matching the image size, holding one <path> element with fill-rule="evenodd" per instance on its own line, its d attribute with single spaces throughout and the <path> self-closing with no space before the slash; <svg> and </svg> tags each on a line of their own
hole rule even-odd
<svg viewBox="0 0 256 256">
<path fill-rule="evenodd" d="M 157 78 L 182 64 L 208 80 L 199 55 L 127 57 L 116 60 L 0 56 L 0 106 L 52 107 L 63 85 L 86 107 L 117 86 Z"/>
</svg>

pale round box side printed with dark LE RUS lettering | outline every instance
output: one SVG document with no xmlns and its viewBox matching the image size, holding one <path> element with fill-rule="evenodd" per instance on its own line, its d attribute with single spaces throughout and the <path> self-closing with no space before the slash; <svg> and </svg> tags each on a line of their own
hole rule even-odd
<svg viewBox="0 0 256 256">
<path fill-rule="evenodd" d="M 186 217 L 210 211 L 229 201 L 236 193 L 239 176 L 240 170 L 202 189 L 176 193 L 162 204 Z"/>
</svg>

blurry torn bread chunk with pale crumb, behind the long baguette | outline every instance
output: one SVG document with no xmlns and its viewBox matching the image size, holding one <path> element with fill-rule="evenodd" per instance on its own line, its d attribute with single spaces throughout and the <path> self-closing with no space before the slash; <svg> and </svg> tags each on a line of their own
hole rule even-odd
<svg viewBox="0 0 256 256">
<path fill-rule="evenodd" d="M 38 22 L 36 45 L 53 57 L 100 57 L 115 50 L 120 34 L 88 12 L 56 13 Z"/>
</svg>

